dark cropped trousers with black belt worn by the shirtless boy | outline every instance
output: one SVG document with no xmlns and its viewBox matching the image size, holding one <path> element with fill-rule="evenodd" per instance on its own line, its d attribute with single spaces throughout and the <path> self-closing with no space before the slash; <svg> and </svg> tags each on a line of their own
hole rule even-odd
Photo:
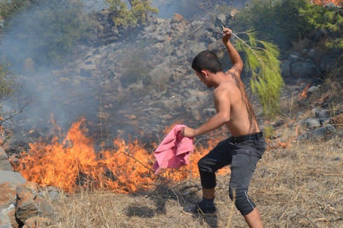
<svg viewBox="0 0 343 228">
<path fill-rule="evenodd" d="M 254 137 L 254 135 L 256 136 Z M 224 166 L 231 165 L 230 197 L 232 198 L 234 191 L 235 201 L 239 204 L 236 204 L 237 208 L 242 214 L 248 214 L 255 207 L 247 195 L 248 187 L 256 164 L 261 159 L 265 149 L 266 142 L 262 133 L 244 135 L 238 138 L 230 137 L 220 142 L 198 162 L 202 187 L 205 189 L 215 188 L 215 172 Z"/>
</svg>

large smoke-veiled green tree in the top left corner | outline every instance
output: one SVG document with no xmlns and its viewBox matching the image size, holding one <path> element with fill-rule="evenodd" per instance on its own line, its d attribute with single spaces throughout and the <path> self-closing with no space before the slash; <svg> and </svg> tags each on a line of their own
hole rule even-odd
<svg viewBox="0 0 343 228">
<path fill-rule="evenodd" d="M 4 4 L 2 9 L 7 6 L 11 10 L 1 11 L 7 17 L 3 49 L 16 65 L 25 65 L 28 58 L 34 65 L 68 62 L 77 41 L 94 25 L 81 0 L 15 0 Z"/>
</svg>

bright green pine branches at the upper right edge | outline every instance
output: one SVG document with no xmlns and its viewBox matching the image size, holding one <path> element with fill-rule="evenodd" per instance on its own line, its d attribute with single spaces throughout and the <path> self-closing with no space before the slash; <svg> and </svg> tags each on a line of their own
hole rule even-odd
<svg viewBox="0 0 343 228">
<path fill-rule="evenodd" d="M 324 8 L 320 5 L 306 4 L 300 11 L 309 23 L 318 29 L 333 32 L 335 38 L 330 38 L 326 43 L 328 48 L 343 49 L 343 9 Z"/>
</svg>

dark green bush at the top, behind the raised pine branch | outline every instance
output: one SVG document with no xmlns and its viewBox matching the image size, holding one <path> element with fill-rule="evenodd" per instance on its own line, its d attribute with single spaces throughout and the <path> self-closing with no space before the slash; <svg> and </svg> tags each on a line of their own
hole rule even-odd
<svg viewBox="0 0 343 228">
<path fill-rule="evenodd" d="M 292 41 L 299 35 L 311 31 L 305 17 L 299 14 L 299 8 L 306 0 L 252 0 L 233 17 L 229 27 L 237 31 L 255 28 L 259 37 L 272 40 L 282 51 L 288 51 Z"/>
</svg>

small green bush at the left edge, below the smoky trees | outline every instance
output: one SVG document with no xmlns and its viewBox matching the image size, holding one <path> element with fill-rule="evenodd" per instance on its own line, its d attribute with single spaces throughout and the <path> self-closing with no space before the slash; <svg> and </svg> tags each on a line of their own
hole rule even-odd
<svg viewBox="0 0 343 228">
<path fill-rule="evenodd" d="M 16 85 L 14 81 L 15 75 L 8 70 L 10 65 L 8 61 L 0 63 L 0 99 L 9 97 L 14 93 L 14 87 Z"/>
</svg>

